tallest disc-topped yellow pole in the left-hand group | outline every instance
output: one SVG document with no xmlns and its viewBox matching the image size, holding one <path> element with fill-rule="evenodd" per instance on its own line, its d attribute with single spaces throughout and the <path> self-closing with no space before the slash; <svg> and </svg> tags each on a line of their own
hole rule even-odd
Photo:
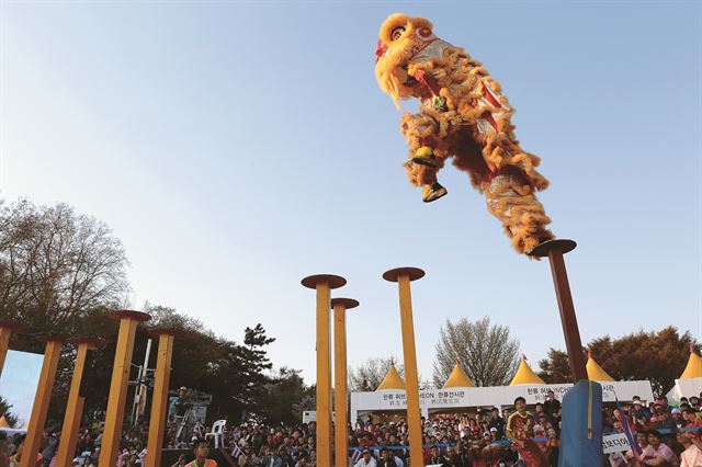
<svg viewBox="0 0 702 467">
<path fill-rule="evenodd" d="M 98 462 L 101 466 L 110 467 L 117 464 L 136 327 L 139 322 L 151 319 L 147 314 L 127 310 L 115 311 L 112 316 L 120 319 L 120 334 L 117 335 L 117 346 L 114 352 L 114 366 L 112 367 L 110 396 L 107 397 L 107 413 Z"/>
</svg>

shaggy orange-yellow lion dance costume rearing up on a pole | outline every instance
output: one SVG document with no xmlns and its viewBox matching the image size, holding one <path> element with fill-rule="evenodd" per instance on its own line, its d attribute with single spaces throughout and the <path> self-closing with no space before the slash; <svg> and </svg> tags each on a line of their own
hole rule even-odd
<svg viewBox="0 0 702 467">
<path fill-rule="evenodd" d="M 480 62 L 438 38 L 429 21 L 394 14 L 381 26 L 375 76 L 398 109 L 400 99 L 421 103 L 418 114 L 403 115 L 400 128 L 410 151 L 405 168 L 424 202 L 446 194 L 437 172 L 453 157 L 485 193 L 518 252 L 554 238 L 534 194 L 548 181 L 535 170 L 539 158 L 520 147 L 510 122 L 514 111 Z"/>
</svg>

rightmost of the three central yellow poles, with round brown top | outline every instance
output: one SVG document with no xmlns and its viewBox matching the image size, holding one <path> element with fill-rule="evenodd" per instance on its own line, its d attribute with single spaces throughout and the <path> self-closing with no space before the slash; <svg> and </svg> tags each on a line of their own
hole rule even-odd
<svg viewBox="0 0 702 467">
<path fill-rule="evenodd" d="M 421 437 L 421 412 L 419 409 L 419 375 L 417 372 L 417 351 L 415 349 L 412 298 L 409 283 L 423 276 L 424 272 L 417 267 L 398 267 L 383 274 L 384 280 L 397 282 L 399 286 L 399 317 L 403 328 L 403 355 L 405 357 L 407 424 L 409 429 L 409 454 L 412 467 L 423 467 L 424 458 Z"/>
</svg>

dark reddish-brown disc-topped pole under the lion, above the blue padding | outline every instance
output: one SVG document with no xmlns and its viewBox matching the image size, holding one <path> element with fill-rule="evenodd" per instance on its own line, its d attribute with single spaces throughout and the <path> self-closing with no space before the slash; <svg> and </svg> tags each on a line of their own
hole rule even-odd
<svg viewBox="0 0 702 467">
<path fill-rule="evenodd" d="M 574 383 L 580 379 L 588 379 L 585 355 L 582 354 L 582 343 L 580 341 L 580 331 L 578 330 L 578 320 L 575 316 L 568 273 L 563 259 L 565 253 L 575 250 L 576 247 L 577 243 L 573 240 L 556 239 L 541 243 L 529 253 L 536 258 L 548 257 L 553 284 L 556 288 L 558 310 L 561 312 L 561 326 L 563 327 L 563 335 L 566 340 L 566 350 L 568 352 L 568 362 L 570 363 Z"/>
</svg>

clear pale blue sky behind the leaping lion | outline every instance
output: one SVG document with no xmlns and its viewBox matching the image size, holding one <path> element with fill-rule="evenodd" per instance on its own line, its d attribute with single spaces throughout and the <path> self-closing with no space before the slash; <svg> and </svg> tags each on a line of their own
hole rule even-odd
<svg viewBox="0 0 702 467">
<path fill-rule="evenodd" d="M 700 339 L 700 2 L 2 2 L 1 194 L 106 221 L 145 300 L 314 379 L 314 293 L 346 276 L 349 364 L 401 356 L 414 284 L 420 374 L 439 326 L 509 324 L 532 362 L 564 348 L 548 264 L 513 253 L 464 173 L 421 203 L 400 113 L 373 73 L 390 13 L 482 60 L 543 159 L 582 340 L 675 324 Z M 177 364 L 177 363 L 176 363 Z"/>
</svg>

